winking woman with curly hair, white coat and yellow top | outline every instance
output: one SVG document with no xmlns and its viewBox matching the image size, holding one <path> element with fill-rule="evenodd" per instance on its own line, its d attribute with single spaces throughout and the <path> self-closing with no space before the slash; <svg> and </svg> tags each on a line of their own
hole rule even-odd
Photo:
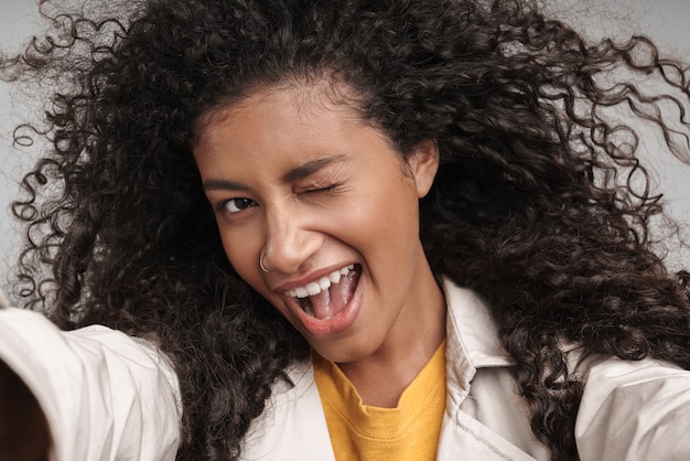
<svg viewBox="0 0 690 461">
<path fill-rule="evenodd" d="M 688 455 L 686 277 L 654 250 L 637 131 L 605 118 L 630 107 L 687 156 L 660 115 L 682 67 L 647 40 L 463 0 L 152 0 L 67 29 L 8 64 L 75 83 L 15 204 L 20 281 L 62 329 L 137 340 L 4 312 L 55 452 Z M 66 386 L 13 358 L 43 335 L 31 355 L 66 345 L 41 373 L 112 410 L 51 406 Z"/>
</svg>

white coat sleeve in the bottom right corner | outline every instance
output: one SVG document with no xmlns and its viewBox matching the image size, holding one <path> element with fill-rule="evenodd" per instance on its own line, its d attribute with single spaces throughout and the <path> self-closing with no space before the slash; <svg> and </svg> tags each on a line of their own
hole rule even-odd
<svg viewBox="0 0 690 461">
<path fill-rule="evenodd" d="M 608 360 L 589 373 L 575 424 L 582 461 L 690 460 L 690 372 Z"/>
</svg>

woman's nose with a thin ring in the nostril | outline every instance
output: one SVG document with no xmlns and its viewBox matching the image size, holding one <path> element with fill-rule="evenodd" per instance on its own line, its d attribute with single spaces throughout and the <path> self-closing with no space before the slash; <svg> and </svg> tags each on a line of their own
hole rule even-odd
<svg viewBox="0 0 690 461">
<path fill-rule="evenodd" d="M 323 236 L 308 226 L 309 218 L 290 210 L 266 213 L 266 245 L 263 267 L 268 271 L 298 272 L 316 253 Z"/>
</svg>

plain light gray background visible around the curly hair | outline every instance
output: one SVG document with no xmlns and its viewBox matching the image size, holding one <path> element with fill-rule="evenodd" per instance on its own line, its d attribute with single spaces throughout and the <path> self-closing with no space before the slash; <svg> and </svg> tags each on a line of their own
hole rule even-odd
<svg viewBox="0 0 690 461">
<path fill-rule="evenodd" d="M 602 31 L 619 37 L 645 33 L 657 41 L 661 49 L 675 56 L 686 56 L 690 62 L 690 1 L 688 0 L 556 0 L 549 8 L 590 35 Z M 0 0 L 0 51 L 17 50 L 32 33 L 43 26 L 37 15 L 36 0 Z M 6 291 L 8 276 L 18 256 L 21 243 L 17 225 L 10 217 L 10 201 L 18 193 L 19 179 L 40 153 L 12 147 L 12 129 L 25 120 L 39 107 L 28 105 L 29 98 L 0 82 L 0 288 Z M 39 112 L 40 114 L 40 112 Z M 653 138 L 654 135 L 650 135 Z M 648 146 L 654 146 L 654 139 Z M 654 148 L 650 149 L 653 151 Z M 654 159 L 659 176 L 659 190 L 669 201 L 672 215 L 690 223 L 690 169 L 679 168 L 670 156 Z M 676 264 L 690 265 L 688 251 L 671 255 Z"/>
</svg>

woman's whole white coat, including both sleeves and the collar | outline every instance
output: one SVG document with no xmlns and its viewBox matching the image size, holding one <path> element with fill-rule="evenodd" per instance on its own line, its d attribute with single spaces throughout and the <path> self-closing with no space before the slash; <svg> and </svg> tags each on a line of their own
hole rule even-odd
<svg viewBox="0 0 690 461">
<path fill-rule="evenodd" d="M 547 460 L 515 394 L 486 305 L 446 283 L 446 408 L 439 460 Z M 576 352 L 573 352 L 576 353 Z M 180 390 L 150 343 L 103 326 L 57 331 L 0 310 L 0 358 L 29 385 L 54 440 L 52 460 L 174 460 Z M 690 372 L 657 361 L 590 363 L 575 424 L 582 461 L 690 460 Z M 311 364 L 289 371 L 245 438 L 245 460 L 333 460 Z"/>
</svg>

